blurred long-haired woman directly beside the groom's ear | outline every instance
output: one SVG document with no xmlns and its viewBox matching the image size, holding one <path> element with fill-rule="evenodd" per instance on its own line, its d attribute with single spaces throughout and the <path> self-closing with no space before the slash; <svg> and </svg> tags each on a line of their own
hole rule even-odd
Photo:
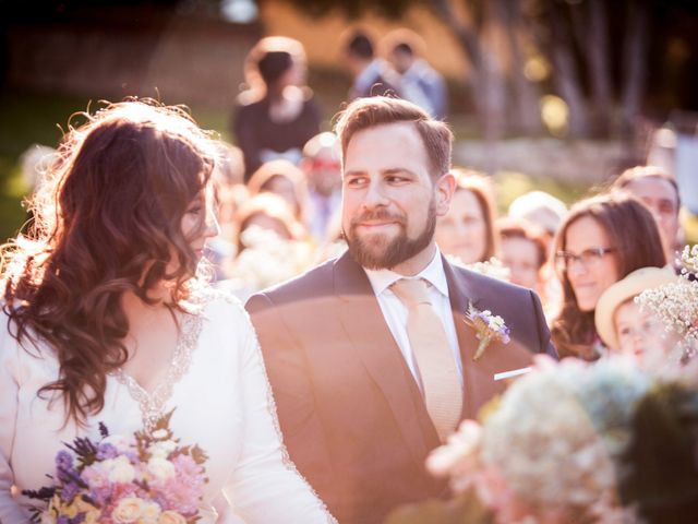
<svg viewBox="0 0 698 524">
<path fill-rule="evenodd" d="M 492 184 L 478 171 L 454 169 L 452 172 L 456 192 L 448 212 L 436 221 L 436 243 L 444 254 L 464 264 L 486 262 L 497 251 Z"/>
</svg>

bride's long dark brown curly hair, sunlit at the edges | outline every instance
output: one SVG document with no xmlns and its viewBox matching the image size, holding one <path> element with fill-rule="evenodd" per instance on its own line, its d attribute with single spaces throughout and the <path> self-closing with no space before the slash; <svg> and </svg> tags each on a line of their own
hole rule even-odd
<svg viewBox="0 0 698 524">
<path fill-rule="evenodd" d="M 181 219 L 215 156 L 181 108 L 131 100 L 80 118 L 29 202 L 31 233 L 2 247 L 2 286 L 12 335 L 29 352 L 41 341 L 60 364 L 39 394 L 58 392 L 67 420 L 83 422 L 128 358 L 123 294 L 153 303 L 166 281 L 177 307 L 191 291 L 197 261 Z"/>
</svg>

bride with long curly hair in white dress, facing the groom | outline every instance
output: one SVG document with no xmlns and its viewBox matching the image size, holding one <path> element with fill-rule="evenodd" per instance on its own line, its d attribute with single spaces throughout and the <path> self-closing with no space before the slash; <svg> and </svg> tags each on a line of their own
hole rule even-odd
<svg viewBox="0 0 698 524">
<path fill-rule="evenodd" d="M 172 412 L 208 460 L 204 523 L 334 522 L 281 443 L 255 333 L 197 275 L 212 211 L 212 140 L 186 115 L 110 105 L 71 129 L 3 248 L 0 522 L 48 484 L 75 437 L 152 429 Z"/>
</svg>

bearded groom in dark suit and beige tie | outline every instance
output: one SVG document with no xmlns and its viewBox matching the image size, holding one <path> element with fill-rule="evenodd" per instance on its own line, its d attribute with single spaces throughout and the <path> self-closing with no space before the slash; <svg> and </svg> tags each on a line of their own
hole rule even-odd
<svg viewBox="0 0 698 524">
<path fill-rule="evenodd" d="M 434 242 L 455 190 L 445 123 L 373 97 L 337 133 L 348 252 L 246 308 L 291 460 L 339 522 L 380 523 L 444 496 L 429 452 L 503 390 L 496 373 L 555 350 L 532 291 L 455 266 Z M 478 359 L 470 303 L 510 330 Z"/>
</svg>

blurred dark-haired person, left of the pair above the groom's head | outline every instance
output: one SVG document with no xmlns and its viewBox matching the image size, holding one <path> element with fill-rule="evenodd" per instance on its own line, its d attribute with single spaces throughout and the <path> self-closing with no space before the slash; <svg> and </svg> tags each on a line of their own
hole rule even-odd
<svg viewBox="0 0 698 524">
<path fill-rule="evenodd" d="M 397 94 L 395 72 L 375 56 L 373 41 L 362 29 L 344 36 L 342 58 L 352 76 L 349 99 Z"/>
</svg>

